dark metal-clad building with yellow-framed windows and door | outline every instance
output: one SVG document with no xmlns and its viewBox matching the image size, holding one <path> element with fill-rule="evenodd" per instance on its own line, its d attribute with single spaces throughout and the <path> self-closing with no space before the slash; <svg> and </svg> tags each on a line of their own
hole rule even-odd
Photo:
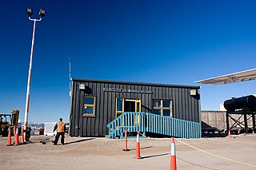
<svg viewBox="0 0 256 170">
<path fill-rule="evenodd" d="M 106 136 L 125 112 L 201 123 L 200 87 L 72 78 L 70 136 Z"/>
</svg>

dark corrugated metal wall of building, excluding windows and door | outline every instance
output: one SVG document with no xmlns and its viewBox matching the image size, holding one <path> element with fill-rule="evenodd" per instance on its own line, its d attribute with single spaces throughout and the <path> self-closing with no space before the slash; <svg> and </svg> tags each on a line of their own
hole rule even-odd
<svg viewBox="0 0 256 170">
<path fill-rule="evenodd" d="M 190 95 L 190 89 L 198 86 L 154 85 L 118 81 L 73 80 L 70 112 L 70 136 L 105 136 L 106 125 L 115 118 L 116 97 L 141 99 L 142 112 L 151 113 L 154 99 L 173 101 L 173 117 L 186 121 L 200 122 L 200 96 Z M 79 89 L 85 84 L 86 89 Z M 152 93 L 106 92 L 104 88 L 147 90 Z M 95 117 L 83 117 L 83 98 L 96 96 Z"/>
</svg>

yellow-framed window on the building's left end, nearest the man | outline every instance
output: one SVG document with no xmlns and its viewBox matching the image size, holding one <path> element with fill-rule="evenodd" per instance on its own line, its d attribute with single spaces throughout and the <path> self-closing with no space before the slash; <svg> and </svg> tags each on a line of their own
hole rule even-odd
<svg viewBox="0 0 256 170">
<path fill-rule="evenodd" d="M 83 116 L 84 117 L 95 117 L 95 105 L 96 97 L 84 97 L 83 105 Z"/>
</svg>

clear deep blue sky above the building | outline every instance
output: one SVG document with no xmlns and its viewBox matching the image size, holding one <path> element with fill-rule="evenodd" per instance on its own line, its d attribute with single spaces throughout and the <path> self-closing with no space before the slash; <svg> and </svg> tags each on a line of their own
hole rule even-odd
<svg viewBox="0 0 256 170">
<path fill-rule="evenodd" d="M 37 22 L 28 121 L 69 121 L 69 61 L 76 78 L 200 85 L 255 68 L 256 2 L 222 0 L 3 1 L 0 113 L 24 120 L 33 22 Z M 201 85 L 201 107 L 255 94 L 255 81 Z"/>
</svg>

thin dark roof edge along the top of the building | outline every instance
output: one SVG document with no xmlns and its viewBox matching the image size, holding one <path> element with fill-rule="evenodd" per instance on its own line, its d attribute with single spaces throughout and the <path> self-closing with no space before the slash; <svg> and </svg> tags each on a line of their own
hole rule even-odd
<svg viewBox="0 0 256 170">
<path fill-rule="evenodd" d="M 145 83 L 145 82 L 134 82 L 134 81 L 110 81 L 110 80 L 94 80 L 86 78 L 71 78 L 71 81 L 93 81 L 93 82 L 102 82 L 102 83 L 115 83 L 115 84 L 130 84 L 130 85 L 153 85 L 153 86 L 166 86 L 166 87 L 183 87 L 191 89 L 200 89 L 199 85 L 168 85 L 160 83 Z"/>
</svg>

